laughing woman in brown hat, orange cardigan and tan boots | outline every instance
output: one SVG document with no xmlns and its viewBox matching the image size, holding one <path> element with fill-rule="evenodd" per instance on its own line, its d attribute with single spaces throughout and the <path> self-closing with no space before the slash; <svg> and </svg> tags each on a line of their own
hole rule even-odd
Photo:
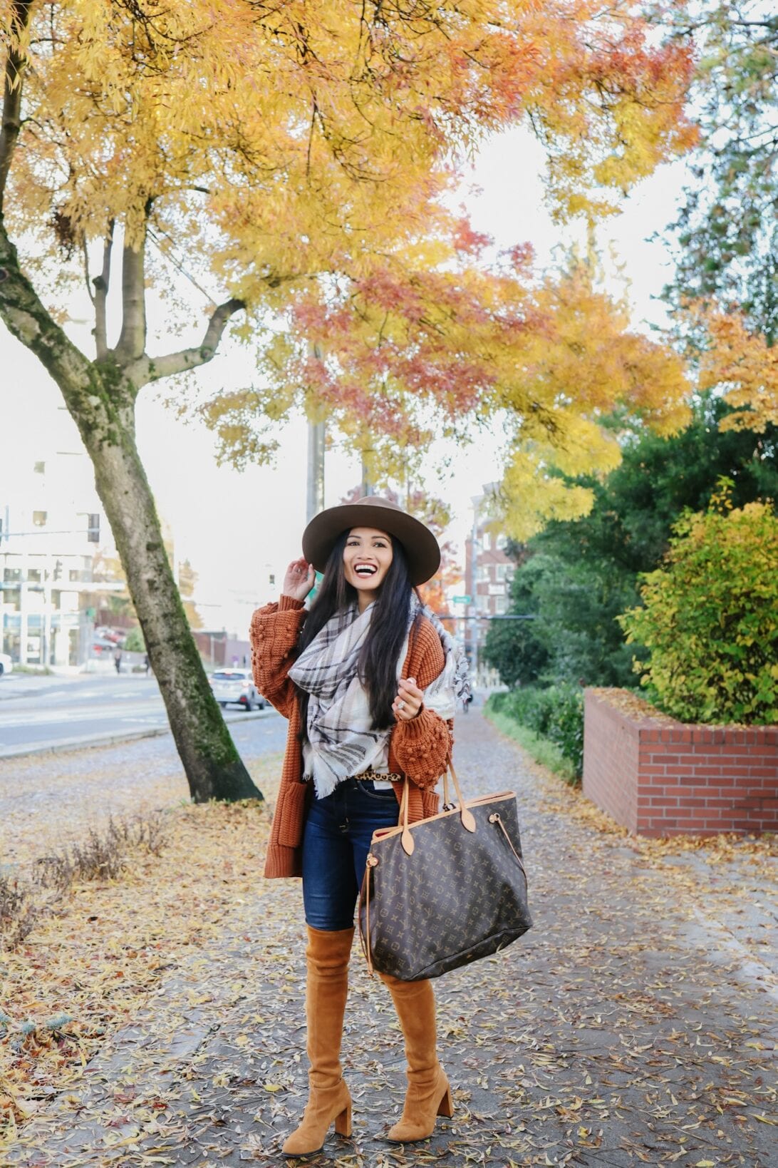
<svg viewBox="0 0 778 1168">
<path fill-rule="evenodd" d="M 451 750 L 464 656 L 414 591 L 440 565 L 432 531 L 385 499 L 318 514 L 289 564 L 281 599 L 251 624 L 259 690 L 289 719 L 265 875 L 302 876 L 308 932 L 309 1099 L 287 1155 L 318 1152 L 335 1121 L 351 1134 L 341 1070 L 353 912 L 373 832 L 393 827 L 405 778 L 409 819 L 437 812 L 433 787 Z M 310 611 L 315 569 L 324 578 Z M 397 1008 L 408 1062 L 397 1142 L 430 1135 L 451 1115 L 435 1045 L 429 981 L 380 975 Z"/>
</svg>

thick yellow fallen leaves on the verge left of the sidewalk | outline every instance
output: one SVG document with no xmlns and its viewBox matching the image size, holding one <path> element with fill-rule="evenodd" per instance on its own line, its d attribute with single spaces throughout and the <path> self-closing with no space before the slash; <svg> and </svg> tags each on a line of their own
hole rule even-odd
<svg viewBox="0 0 778 1168">
<path fill-rule="evenodd" d="M 254 778 L 273 786 L 279 771 L 280 759 L 271 757 Z M 262 895 L 268 822 L 261 804 L 168 807 L 159 856 L 139 849 L 117 880 L 75 884 L 62 898 L 40 895 L 33 933 L 0 955 L 0 1134 L 5 1126 L 13 1135 L 40 1103 L 65 1090 L 106 1035 Z M 22 880 L 33 876 L 41 841 L 48 854 L 78 837 L 75 827 L 56 836 L 37 827 L 14 843 Z"/>
</svg>

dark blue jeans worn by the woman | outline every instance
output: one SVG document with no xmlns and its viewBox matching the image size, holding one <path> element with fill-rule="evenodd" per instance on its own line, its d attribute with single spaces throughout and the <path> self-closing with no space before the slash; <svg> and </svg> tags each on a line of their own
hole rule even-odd
<svg viewBox="0 0 778 1168">
<path fill-rule="evenodd" d="M 302 837 L 302 903 L 306 924 L 334 932 L 353 925 L 373 832 L 395 827 L 394 791 L 376 791 L 370 779 L 345 779 L 324 799 L 314 799 Z"/>
</svg>

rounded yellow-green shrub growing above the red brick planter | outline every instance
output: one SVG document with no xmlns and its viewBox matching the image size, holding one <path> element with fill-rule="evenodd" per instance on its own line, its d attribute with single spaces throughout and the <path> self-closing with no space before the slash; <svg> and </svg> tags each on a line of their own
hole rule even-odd
<svg viewBox="0 0 778 1168">
<path fill-rule="evenodd" d="M 664 566 L 644 577 L 644 607 L 619 623 L 649 647 L 635 662 L 660 709 L 685 722 L 778 722 L 778 519 L 733 508 L 728 484 L 674 526 Z"/>
</svg>

